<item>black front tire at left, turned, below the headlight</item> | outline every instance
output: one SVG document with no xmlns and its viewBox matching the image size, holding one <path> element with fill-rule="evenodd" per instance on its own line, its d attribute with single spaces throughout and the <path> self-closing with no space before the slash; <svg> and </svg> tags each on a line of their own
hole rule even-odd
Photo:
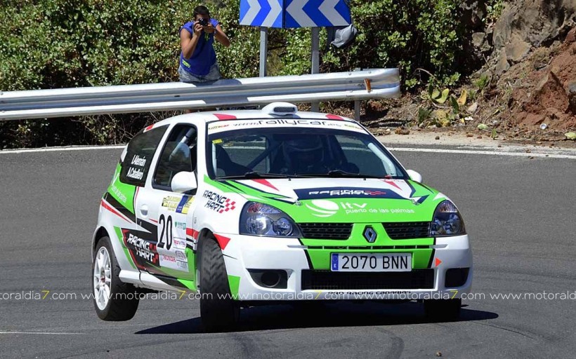
<svg viewBox="0 0 576 359">
<path fill-rule="evenodd" d="M 238 323 L 240 306 L 232 299 L 222 250 L 216 240 L 198 242 L 200 317 L 208 332 L 231 330 Z"/>
</svg>

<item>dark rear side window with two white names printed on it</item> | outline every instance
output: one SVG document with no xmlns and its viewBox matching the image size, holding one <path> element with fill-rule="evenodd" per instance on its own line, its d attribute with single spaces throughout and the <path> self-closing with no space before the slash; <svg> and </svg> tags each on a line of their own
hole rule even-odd
<svg viewBox="0 0 576 359">
<path fill-rule="evenodd" d="M 142 130 L 128 144 L 126 157 L 122 162 L 120 181 L 144 187 L 152 157 L 166 132 L 166 126 Z"/>
</svg>

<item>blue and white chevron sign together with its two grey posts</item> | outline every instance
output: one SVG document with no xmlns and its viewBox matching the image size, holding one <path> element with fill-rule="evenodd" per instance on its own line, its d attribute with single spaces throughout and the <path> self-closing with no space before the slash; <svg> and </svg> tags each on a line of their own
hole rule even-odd
<svg viewBox="0 0 576 359">
<path fill-rule="evenodd" d="M 320 27 L 351 23 L 346 0 L 240 0 L 240 25 L 260 27 L 260 76 L 266 76 L 268 28 L 312 27 L 312 74 L 320 72 Z M 312 110 L 318 111 L 313 102 Z"/>
</svg>

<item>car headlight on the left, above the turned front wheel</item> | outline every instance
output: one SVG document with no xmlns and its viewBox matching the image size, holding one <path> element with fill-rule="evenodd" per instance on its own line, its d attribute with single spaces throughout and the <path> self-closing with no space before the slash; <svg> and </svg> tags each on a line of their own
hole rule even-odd
<svg viewBox="0 0 576 359">
<path fill-rule="evenodd" d="M 249 202 L 240 215 L 240 234 L 249 236 L 301 237 L 292 218 L 281 210 L 263 203 Z"/>
</svg>

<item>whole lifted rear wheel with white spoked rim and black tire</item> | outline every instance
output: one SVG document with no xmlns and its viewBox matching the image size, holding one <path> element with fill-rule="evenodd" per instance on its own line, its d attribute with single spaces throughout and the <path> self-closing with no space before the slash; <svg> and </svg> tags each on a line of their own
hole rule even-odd
<svg viewBox="0 0 576 359">
<path fill-rule="evenodd" d="M 120 266 L 110 238 L 102 237 L 96 245 L 92 262 L 94 309 L 102 320 L 129 320 L 138 309 L 136 287 L 118 277 Z"/>
</svg>

